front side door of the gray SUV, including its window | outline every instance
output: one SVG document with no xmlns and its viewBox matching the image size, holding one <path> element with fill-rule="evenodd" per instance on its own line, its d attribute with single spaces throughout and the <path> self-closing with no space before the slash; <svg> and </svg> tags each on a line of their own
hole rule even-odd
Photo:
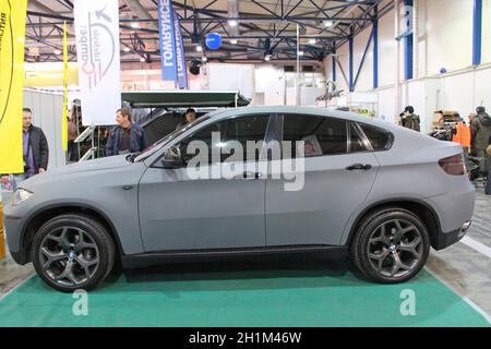
<svg viewBox="0 0 491 349">
<path fill-rule="evenodd" d="M 226 156 L 214 158 L 213 152 L 228 142 L 264 140 L 268 120 L 268 116 L 247 116 L 214 122 L 177 145 L 190 164 L 196 153 L 185 156 L 188 146 L 193 141 L 206 144 L 209 160 L 200 170 L 216 174 Z M 188 166 L 165 169 L 157 161 L 141 179 L 140 225 L 146 252 L 265 245 L 265 178 L 249 172 L 232 179 L 191 174 Z"/>
</svg>

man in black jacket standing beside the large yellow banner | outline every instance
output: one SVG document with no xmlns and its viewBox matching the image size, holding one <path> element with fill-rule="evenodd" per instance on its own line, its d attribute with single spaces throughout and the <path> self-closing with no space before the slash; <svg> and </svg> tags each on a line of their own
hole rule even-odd
<svg viewBox="0 0 491 349">
<path fill-rule="evenodd" d="M 24 173 L 15 176 L 19 183 L 37 173 L 46 172 L 49 160 L 48 141 L 41 129 L 33 125 L 33 112 L 24 108 L 22 124 L 22 148 L 24 157 Z"/>
</svg>

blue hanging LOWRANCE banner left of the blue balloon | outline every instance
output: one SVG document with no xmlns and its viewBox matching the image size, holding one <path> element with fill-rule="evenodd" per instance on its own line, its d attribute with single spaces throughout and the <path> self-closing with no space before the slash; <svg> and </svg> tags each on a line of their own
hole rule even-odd
<svg viewBox="0 0 491 349">
<path fill-rule="evenodd" d="M 184 49 L 179 19 L 172 0 L 158 0 L 161 79 L 173 81 L 176 87 L 188 87 Z"/>
</svg>

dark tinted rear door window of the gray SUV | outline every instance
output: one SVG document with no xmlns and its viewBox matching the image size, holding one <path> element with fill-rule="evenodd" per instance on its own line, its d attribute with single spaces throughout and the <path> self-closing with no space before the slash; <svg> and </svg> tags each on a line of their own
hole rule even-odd
<svg viewBox="0 0 491 349">
<path fill-rule="evenodd" d="M 304 142 L 304 156 L 346 154 L 348 152 L 346 121 L 333 118 L 284 117 L 284 141 L 291 142 L 291 156 L 296 156 L 296 142 Z M 284 154 L 284 157 L 289 157 Z"/>
</svg>

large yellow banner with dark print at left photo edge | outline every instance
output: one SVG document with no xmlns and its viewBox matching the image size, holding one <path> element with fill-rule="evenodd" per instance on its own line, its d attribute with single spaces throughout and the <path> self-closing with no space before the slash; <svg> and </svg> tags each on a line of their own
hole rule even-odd
<svg viewBox="0 0 491 349">
<path fill-rule="evenodd" d="M 0 1 L 0 173 L 24 172 L 22 108 L 27 0 Z"/>
</svg>

